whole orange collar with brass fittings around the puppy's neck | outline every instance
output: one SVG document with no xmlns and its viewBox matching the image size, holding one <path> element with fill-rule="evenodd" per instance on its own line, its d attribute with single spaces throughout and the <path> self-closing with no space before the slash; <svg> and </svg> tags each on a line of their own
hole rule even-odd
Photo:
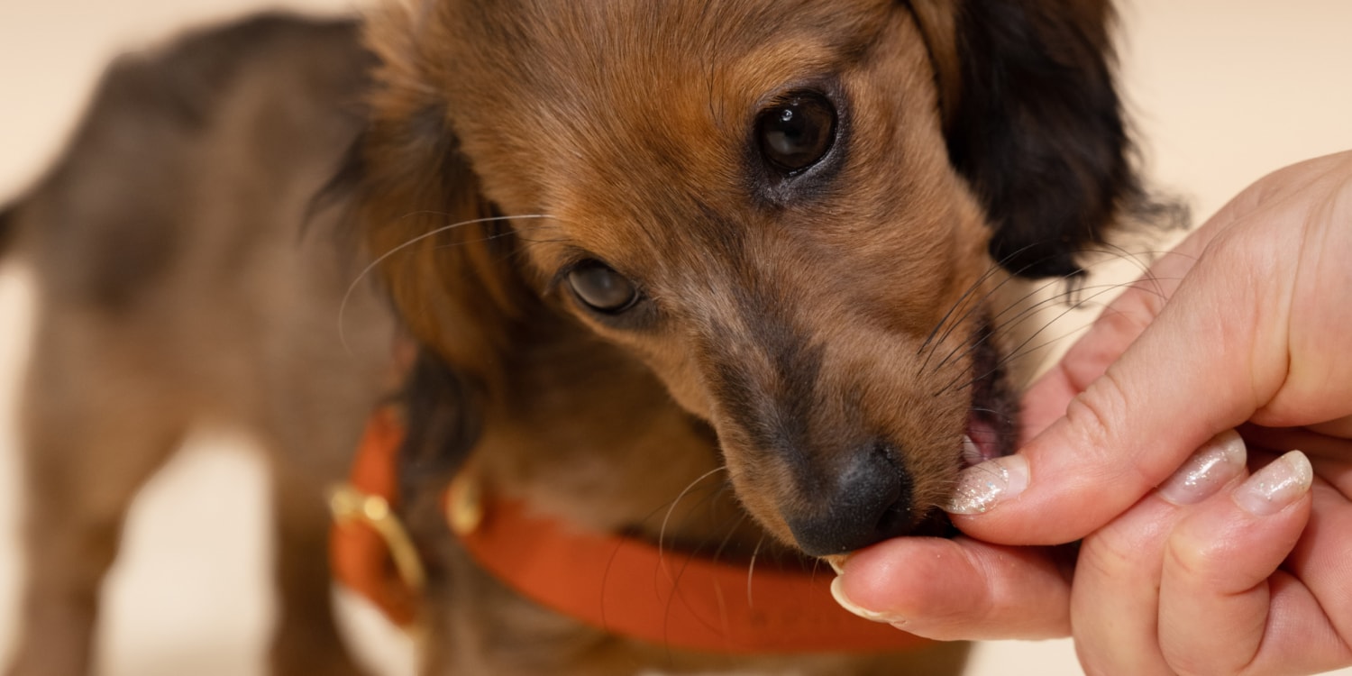
<svg viewBox="0 0 1352 676">
<path fill-rule="evenodd" d="M 400 441 L 396 415 L 383 411 L 372 418 L 352 480 L 366 493 L 362 498 L 393 502 Z M 635 538 L 571 529 L 521 503 L 484 499 L 472 488 L 466 480 L 454 481 L 446 504 L 452 530 L 479 565 L 522 596 L 608 633 L 725 654 L 898 652 L 930 645 L 837 606 L 829 568 L 758 562 L 749 569 L 665 552 Z M 335 493 L 334 502 L 343 499 Z M 356 516 L 352 508 L 346 518 L 339 515 L 331 548 L 335 573 L 391 619 L 408 625 L 415 619 L 420 571 L 406 571 L 399 552 L 381 549 L 381 541 L 393 541 L 393 550 L 411 545 L 397 542 L 399 534 L 391 539 L 387 531 L 393 529 L 366 514 L 379 516 L 379 504 L 368 507 L 358 507 Z"/>
</svg>

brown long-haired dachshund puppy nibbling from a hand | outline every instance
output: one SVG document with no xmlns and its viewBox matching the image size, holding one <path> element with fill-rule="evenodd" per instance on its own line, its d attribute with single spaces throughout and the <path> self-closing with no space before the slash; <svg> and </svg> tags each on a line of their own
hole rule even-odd
<svg viewBox="0 0 1352 676">
<path fill-rule="evenodd" d="M 748 585 L 946 534 L 956 473 L 1017 439 L 1010 280 L 1078 277 L 1141 200 L 1110 23 L 1096 0 L 408 0 L 123 59 L 0 216 L 39 288 L 11 673 L 88 669 L 127 503 L 201 422 L 274 470 L 273 671 L 357 673 L 319 496 L 389 402 L 426 673 L 960 671 L 961 644 L 634 638 L 522 594 L 476 533 L 510 504 Z"/>
</svg>

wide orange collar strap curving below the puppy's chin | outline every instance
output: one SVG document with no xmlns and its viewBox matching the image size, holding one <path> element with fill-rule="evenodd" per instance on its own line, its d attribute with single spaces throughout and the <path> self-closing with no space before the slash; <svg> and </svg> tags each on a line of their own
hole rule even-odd
<svg viewBox="0 0 1352 676">
<path fill-rule="evenodd" d="M 470 556 L 518 594 L 612 634 L 723 654 L 896 652 L 929 641 L 857 618 L 830 595 L 831 569 L 730 564 L 571 529 L 516 502 L 466 499 L 481 518 L 460 533 Z"/>
</svg>

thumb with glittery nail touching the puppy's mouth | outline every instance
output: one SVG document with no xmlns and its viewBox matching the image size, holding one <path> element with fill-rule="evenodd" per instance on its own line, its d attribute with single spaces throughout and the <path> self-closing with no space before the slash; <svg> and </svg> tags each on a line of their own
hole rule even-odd
<svg viewBox="0 0 1352 676">
<path fill-rule="evenodd" d="M 1253 193 L 1157 261 L 1029 391 L 1033 425 L 1064 415 L 1018 454 L 964 470 L 959 529 L 998 544 L 1082 538 L 1282 387 L 1294 257 L 1252 237 L 1265 211 Z"/>
</svg>

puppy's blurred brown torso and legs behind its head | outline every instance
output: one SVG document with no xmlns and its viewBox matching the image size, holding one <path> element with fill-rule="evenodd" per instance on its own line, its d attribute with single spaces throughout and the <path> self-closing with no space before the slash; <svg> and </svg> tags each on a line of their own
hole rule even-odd
<svg viewBox="0 0 1352 676">
<path fill-rule="evenodd" d="M 392 391 L 396 324 L 369 287 L 346 296 L 357 257 L 339 256 L 334 214 L 306 223 L 361 128 L 369 66 L 354 23 L 284 18 L 123 57 L 62 160 L 4 212 L 5 254 L 37 291 L 11 673 L 88 672 L 126 510 L 201 425 L 266 450 L 274 671 L 357 673 L 334 649 L 323 492 Z"/>
</svg>

